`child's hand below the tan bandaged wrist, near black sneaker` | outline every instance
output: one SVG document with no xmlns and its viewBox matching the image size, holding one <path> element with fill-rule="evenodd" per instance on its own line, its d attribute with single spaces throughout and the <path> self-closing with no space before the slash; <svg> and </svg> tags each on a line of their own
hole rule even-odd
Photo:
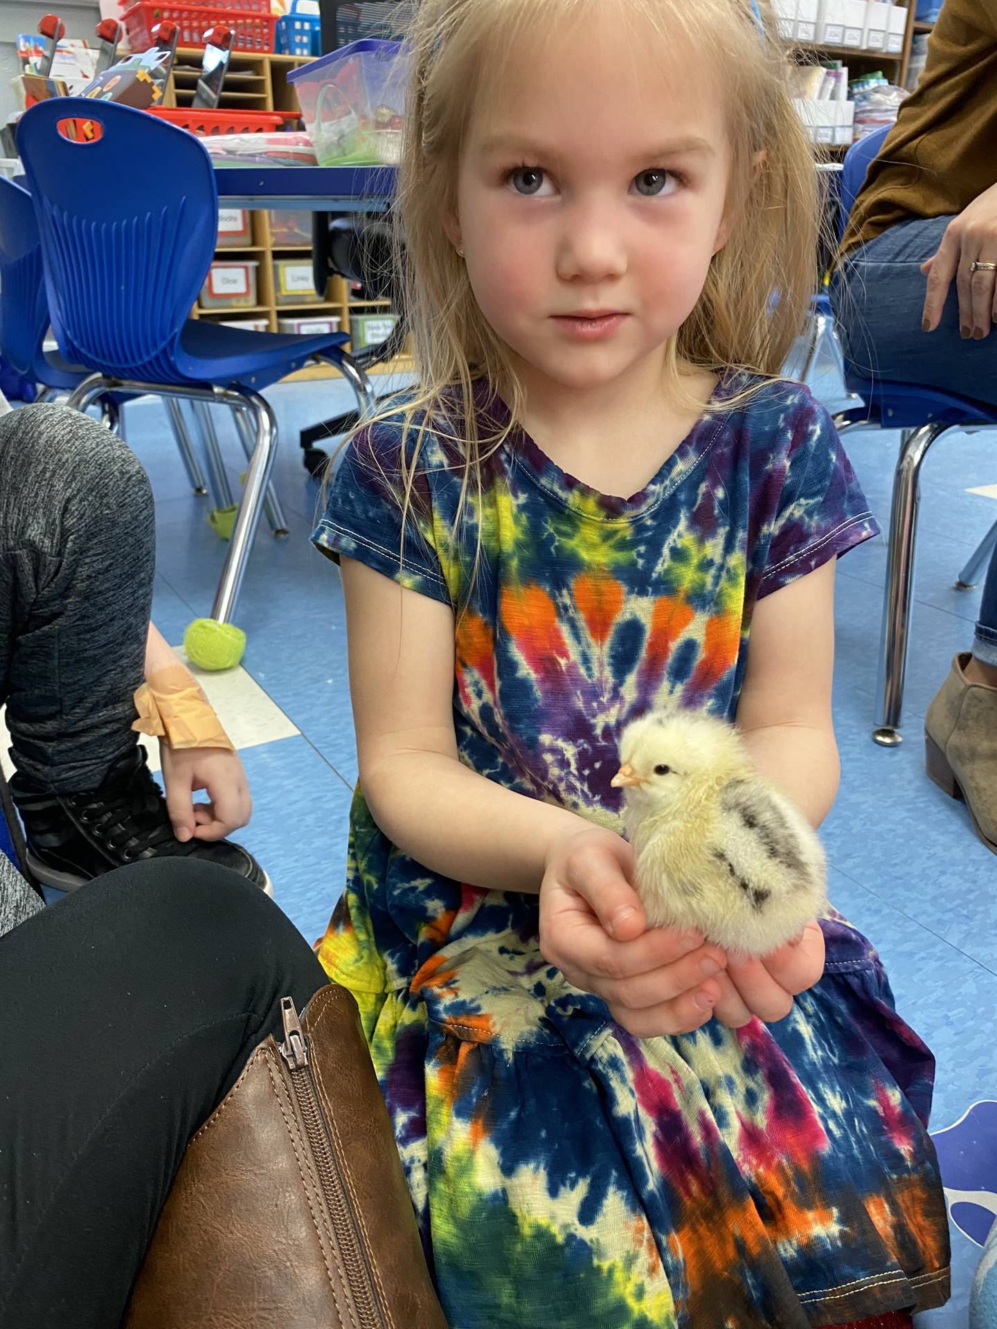
<svg viewBox="0 0 997 1329">
<path fill-rule="evenodd" d="M 166 809 L 173 833 L 186 844 L 222 840 L 253 816 L 253 799 L 238 752 L 227 748 L 171 748 L 160 740 Z M 209 803 L 194 803 L 195 789 L 206 789 Z"/>
</svg>

